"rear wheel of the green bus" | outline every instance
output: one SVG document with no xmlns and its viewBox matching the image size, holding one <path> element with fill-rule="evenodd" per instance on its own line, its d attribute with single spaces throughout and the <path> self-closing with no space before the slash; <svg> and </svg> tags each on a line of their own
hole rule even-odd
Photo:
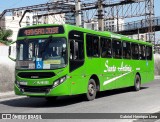
<svg viewBox="0 0 160 122">
<path fill-rule="evenodd" d="M 141 78 L 138 74 L 136 74 L 134 79 L 134 91 L 139 91 L 141 88 Z"/>
</svg>

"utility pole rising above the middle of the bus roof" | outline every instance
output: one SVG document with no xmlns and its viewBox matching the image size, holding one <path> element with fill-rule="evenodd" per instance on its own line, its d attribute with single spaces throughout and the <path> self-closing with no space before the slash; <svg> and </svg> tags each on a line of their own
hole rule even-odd
<svg viewBox="0 0 160 122">
<path fill-rule="evenodd" d="M 98 29 L 104 31 L 103 0 L 98 0 Z"/>
</svg>

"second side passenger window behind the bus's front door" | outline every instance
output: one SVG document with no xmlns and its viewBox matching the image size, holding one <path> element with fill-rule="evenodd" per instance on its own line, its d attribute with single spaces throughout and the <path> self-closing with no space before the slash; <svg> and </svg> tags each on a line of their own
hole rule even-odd
<svg viewBox="0 0 160 122">
<path fill-rule="evenodd" d="M 101 38 L 101 56 L 102 58 L 112 57 L 111 40 L 107 38 Z"/>
</svg>

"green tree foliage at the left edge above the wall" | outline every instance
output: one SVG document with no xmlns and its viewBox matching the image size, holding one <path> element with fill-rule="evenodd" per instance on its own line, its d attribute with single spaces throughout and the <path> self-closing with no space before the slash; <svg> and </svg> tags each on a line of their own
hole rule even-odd
<svg viewBox="0 0 160 122">
<path fill-rule="evenodd" d="M 13 31 L 10 29 L 0 29 L 0 42 L 8 45 L 12 42 L 12 40 L 9 40 L 8 38 L 11 37 L 13 34 Z"/>
</svg>

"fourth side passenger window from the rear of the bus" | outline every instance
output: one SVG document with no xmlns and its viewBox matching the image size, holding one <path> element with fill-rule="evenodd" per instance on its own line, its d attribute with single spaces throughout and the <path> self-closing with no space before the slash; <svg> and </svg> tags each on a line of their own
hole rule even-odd
<svg viewBox="0 0 160 122">
<path fill-rule="evenodd" d="M 131 44 L 129 42 L 123 42 L 123 58 L 131 58 Z"/>
</svg>

